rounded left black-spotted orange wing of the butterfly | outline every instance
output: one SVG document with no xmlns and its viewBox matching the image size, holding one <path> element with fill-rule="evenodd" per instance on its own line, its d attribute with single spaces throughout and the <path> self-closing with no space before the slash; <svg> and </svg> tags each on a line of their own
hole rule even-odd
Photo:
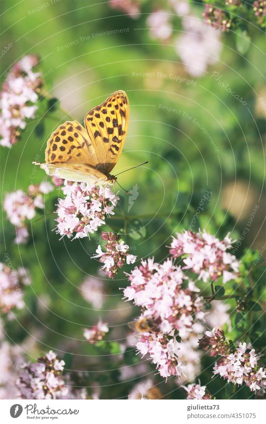
<svg viewBox="0 0 266 424">
<path fill-rule="evenodd" d="M 79 162 L 96 165 L 97 158 L 93 144 L 79 122 L 67 121 L 51 134 L 45 150 L 45 162 Z"/>
</svg>

